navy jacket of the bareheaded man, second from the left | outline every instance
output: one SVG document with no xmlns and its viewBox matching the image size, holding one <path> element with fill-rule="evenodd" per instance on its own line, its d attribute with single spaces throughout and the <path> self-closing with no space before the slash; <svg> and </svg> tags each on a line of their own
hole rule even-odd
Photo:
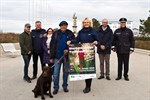
<svg viewBox="0 0 150 100">
<path fill-rule="evenodd" d="M 42 44 L 45 32 L 44 29 L 31 31 L 33 53 L 43 53 Z"/>
</svg>

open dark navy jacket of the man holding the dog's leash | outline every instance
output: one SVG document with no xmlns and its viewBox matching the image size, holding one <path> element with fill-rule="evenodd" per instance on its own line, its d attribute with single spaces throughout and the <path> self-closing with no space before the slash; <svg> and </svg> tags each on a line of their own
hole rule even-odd
<svg viewBox="0 0 150 100">
<path fill-rule="evenodd" d="M 60 58 L 59 52 L 61 51 L 59 49 L 60 44 L 67 46 L 67 41 L 75 38 L 73 32 L 68 29 L 66 30 L 65 34 L 67 36 L 66 42 L 65 44 L 61 44 L 60 41 L 63 37 L 61 30 L 58 30 L 53 33 L 51 43 L 50 43 L 50 52 L 51 52 L 50 59 L 55 59 L 55 58 L 59 59 Z M 68 46 L 65 48 L 69 49 Z M 67 58 L 68 58 L 68 55 L 67 55 Z"/>
</svg>

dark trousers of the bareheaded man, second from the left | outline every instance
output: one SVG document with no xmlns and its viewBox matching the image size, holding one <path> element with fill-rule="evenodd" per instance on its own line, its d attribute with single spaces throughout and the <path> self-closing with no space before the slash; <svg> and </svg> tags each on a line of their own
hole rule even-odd
<svg viewBox="0 0 150 100">
<path fill-rule="evenodd" d="M 37 76 L 38 71 L 38 57 L 40 57 L 41 67 L 43 70 L 43 53 L 33 53 L 33 76 Z"/>
</svg>

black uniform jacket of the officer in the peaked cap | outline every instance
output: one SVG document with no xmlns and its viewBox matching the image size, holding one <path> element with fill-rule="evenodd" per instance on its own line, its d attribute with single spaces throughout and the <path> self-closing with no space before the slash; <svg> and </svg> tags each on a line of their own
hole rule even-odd
<svg viewBox="0 0 150 100">
<path fill-rule="evenodd" d="M 116 29 L 113 36 L 113 46 L 119 54 L 128 54 L 130 51 L 134 51 L 135 40 L 133 32 L 129 28 Z"/>
</svg>

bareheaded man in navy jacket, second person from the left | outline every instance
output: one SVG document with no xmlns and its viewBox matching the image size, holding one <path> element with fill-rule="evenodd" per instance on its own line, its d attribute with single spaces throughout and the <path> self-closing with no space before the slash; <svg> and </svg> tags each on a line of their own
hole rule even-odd
<svg viewBox="0 0 150 100">
<path fill-rule="evenodd" d="M 37 77 L 37 71 L 38 71 L 38 56 L 40 57 L 41 66 L 43 69 L 43 37 L 45 34 L 45 29 L 41 28 L 41 22 L 36 21 L 35 22 L 36 29 L 32 30 L 31 36 L 32 36 L 32 47 L 33 47 L 33 77 L 32 79 L 35 79 Z"/>
</svg>

